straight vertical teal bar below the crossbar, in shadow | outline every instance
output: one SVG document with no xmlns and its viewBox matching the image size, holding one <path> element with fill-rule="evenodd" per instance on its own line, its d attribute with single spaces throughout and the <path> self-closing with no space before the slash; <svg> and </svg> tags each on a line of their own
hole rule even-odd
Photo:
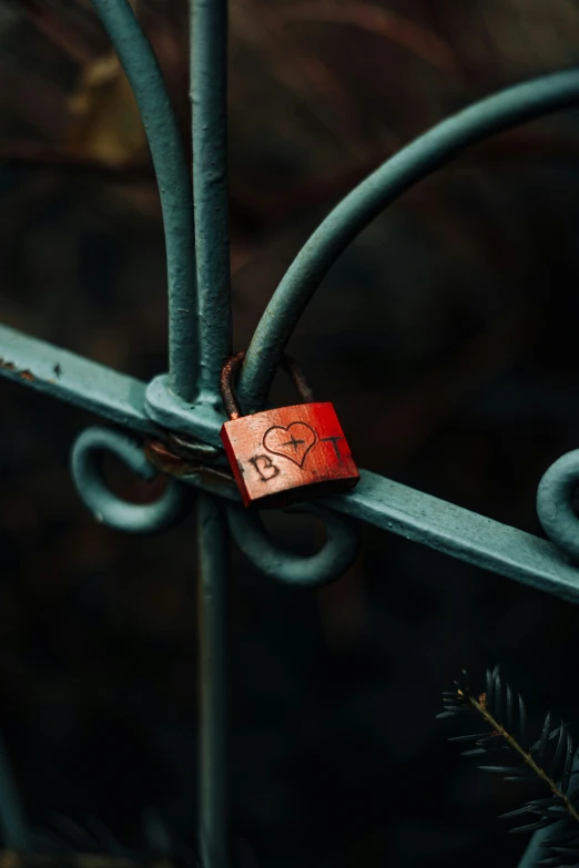
<svg viewBox="0 0 579 868">
<path fill-rule="evenodd" d="M 227 533 L 217 501 L 197 494 L 199 854 L 202 868 L 228 865 Z"/>
</svg>

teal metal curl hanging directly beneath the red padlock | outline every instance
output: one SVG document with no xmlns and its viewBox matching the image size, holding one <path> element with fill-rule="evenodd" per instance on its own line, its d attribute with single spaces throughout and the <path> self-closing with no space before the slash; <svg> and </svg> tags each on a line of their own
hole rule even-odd
<svg viewBox="0 0 579 868">
<path fill-rule="evenodd" d="M 272 542 L 256 511 L 228 504 L 230 530 L 245 556 L 265 575 L 287 584 L 315 588 L 339 579 L 359 551 L 357 522 L 316 503 L 292 507 L 288 511 L 311 512 L 324 522 L 327 539 L 322 549 L 308 556 L 283 549 Z"/>
</svg>

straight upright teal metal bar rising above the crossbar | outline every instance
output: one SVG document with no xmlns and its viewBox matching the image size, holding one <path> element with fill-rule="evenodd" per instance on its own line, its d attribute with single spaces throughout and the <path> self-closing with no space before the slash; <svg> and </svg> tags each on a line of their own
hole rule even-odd
<svg viewBox="0 0 579 868">
<path fill-rule="evenodd" d="M 227 203 L 227 0 L 191 2 L 191 100 L 201 400 L 220 402 L 231 356 Z"/>
</svg>

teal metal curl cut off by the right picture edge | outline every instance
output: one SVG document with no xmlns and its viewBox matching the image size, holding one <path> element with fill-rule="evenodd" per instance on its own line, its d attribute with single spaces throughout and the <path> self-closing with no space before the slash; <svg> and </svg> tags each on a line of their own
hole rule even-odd
<svg viewBox="0 0 579 868">
<path fill-rule="evenodd" d="M 547 470 L 537 489 L 537 514 L 547 537 L 579 563 L 579 518 L 572 497 L 579 487 L 579 449 L 567 452 Z"/>
</svg>

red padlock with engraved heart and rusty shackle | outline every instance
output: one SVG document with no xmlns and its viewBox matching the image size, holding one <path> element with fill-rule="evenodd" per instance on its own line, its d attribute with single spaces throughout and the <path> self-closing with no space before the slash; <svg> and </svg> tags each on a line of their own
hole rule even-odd
<svg viewBox="0 0 579 868">
<path fill-rule="evenodd" d="M 353 488 L 359 473 L 329 402 L 313 394 L 293 359 L 285 368 L 305 404 L 242 416 L 235 375 L 245 357 L 238 353 L 223 368 L 221 391 L 230 421 L 221 439 L 246 507 L 283 507 Z"/>
</svg>

